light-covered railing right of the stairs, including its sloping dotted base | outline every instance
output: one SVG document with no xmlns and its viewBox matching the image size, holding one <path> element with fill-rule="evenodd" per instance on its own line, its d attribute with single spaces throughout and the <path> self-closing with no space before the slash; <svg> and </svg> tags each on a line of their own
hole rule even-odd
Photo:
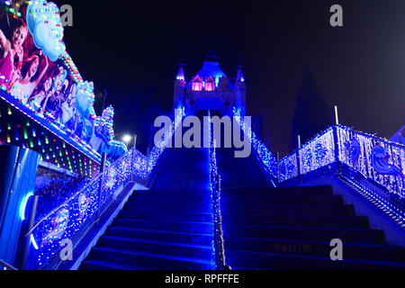
<svg viewBox="0 0 405 288">
<path fill-rule="evenodd" d="M 404 146 L 346 126 L 334 126 L 280 160 L 279 183 L 332 164 L 338 165 L 339 176 L 391 213 L 393 219 L 405 220 Z M 378 188 L 372 189 L 370 184 Z"/>
</svg>

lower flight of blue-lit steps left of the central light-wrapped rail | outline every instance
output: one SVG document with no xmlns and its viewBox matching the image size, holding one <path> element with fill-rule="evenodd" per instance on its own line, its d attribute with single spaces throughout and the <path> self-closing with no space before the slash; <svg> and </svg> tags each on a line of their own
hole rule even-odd
<svg viewBox="0 0 405 288">
<path fill-rule="evenodd" d="M 81 269 L 211 269 L 210 196 L 205 191 L 136 192 Z"/>
</svg>

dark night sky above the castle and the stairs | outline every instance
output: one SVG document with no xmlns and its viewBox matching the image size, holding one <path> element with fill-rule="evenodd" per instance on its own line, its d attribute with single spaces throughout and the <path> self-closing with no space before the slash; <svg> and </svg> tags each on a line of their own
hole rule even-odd
<svg viewBox="0 0 405 288">
<path fill-rule="evenodd" d="M 404 124 L 403 0 L 55 2 L 74 8 L 67 51 L 86 80 L 109 91 L 107 103 L 121 115 L 118 132 L 127 129 L 120 123 L 140 94 L 170 109 L 175 64 L 182 58 L 193 76 L 209 42 L 229 77 L 243 56 L 247 111 L 264 116 L 274 151 L 291 150 L 306 66 L 330 109 L 338 104 L 343 124 L 386 138 Z M 343 28 L 329 25 L 332 4 L 344 8 Z"/>
</svg>

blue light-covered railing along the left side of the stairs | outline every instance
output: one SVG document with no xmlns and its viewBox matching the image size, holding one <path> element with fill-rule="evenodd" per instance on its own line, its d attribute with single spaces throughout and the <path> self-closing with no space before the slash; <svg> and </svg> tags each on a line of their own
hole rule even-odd
<svg viewBox="0 0 405 288">
<path fill-rule="evenodd" d="M 57 269 L 65 260 L 64 247 L 71 244 L 75 249 L 103 217 L 124 187 L 130 182 L 148 184 L 149 176 L 157 165 L 168 141 L 181 122 L 184 113 L 176 116 L 172 129 L 161 139 L 161 143 L 148 155 L 132 148 L 102 174 L 72 193 L 58 207 L 38 220 L 26 235 L 31 239 L 27 269 Z M 61 253 L 63 255 L 61 255 Z"/>
</svg>

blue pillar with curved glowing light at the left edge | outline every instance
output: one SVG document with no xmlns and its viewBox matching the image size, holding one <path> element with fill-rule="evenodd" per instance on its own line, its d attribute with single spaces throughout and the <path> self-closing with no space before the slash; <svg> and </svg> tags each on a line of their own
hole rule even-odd
<svg viewBox="0 0 405 288">
<path fill-rule="evenodd" d="M 14 266 L 30 217 L 40 155 L 4 145 L 0 159 L 0 259 Z"/>
</svg>

